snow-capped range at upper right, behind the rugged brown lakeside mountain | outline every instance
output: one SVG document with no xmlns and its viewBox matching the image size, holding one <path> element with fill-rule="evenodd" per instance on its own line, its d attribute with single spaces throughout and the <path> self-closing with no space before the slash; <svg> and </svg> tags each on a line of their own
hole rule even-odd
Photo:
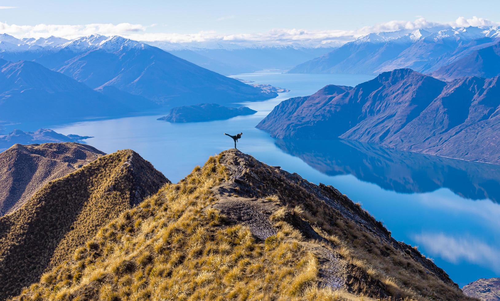
<svg viewBox="0 0 500 301">
<path fill-rule="evenodd" d="M 411 68 L 438 78 L 494 77 L 500 74 L 499 43 L 497 26 L 370 33 L 288 72 L 378 74 Z"/>
</svg>

